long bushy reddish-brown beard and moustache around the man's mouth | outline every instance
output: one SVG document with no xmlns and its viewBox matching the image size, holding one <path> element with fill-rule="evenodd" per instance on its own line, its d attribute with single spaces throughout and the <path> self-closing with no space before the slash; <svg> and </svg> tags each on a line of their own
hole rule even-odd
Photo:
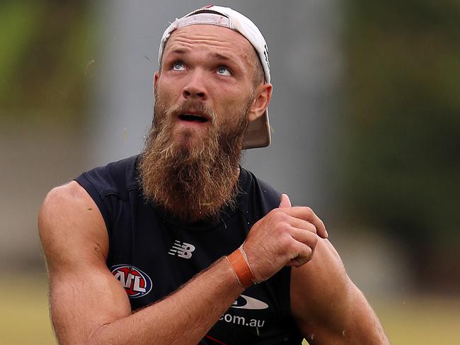
<svg viewBox="0 0 460 345">
<path fill-rule="evenodd" d="M 139 164 L 147 200 L 184 222 L 218 217 L 222 208 L 234 205 L 250 104 L 246 103 L 238 114 L 226 114 L 226 118 L 237 116 L 237 121 L 217 128 L 214 111 L 201 102 L 166 109 L 161 101 L 156 101 L 154 123 Z M 185 112 L 190 105 L 210 119 L 208 135 L 195 140 L 193 145 L 176 142 L 172 135 L 175 115 Z"/>
</svg>

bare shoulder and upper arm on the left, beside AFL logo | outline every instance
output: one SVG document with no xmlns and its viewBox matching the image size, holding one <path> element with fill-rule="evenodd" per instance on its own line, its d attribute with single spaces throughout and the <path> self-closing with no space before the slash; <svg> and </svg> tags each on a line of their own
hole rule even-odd
<svg viewBox="0 0 460 345">
<path fill-rule="evenodd" d="M 130 315 L 130 302 L 105 266 L 108 234 L 88 193 L 72 181 L 48 193 L 38 227 L 50 275 L 52 323 L 63 344 L 84 342 Z"/>
</svg>

